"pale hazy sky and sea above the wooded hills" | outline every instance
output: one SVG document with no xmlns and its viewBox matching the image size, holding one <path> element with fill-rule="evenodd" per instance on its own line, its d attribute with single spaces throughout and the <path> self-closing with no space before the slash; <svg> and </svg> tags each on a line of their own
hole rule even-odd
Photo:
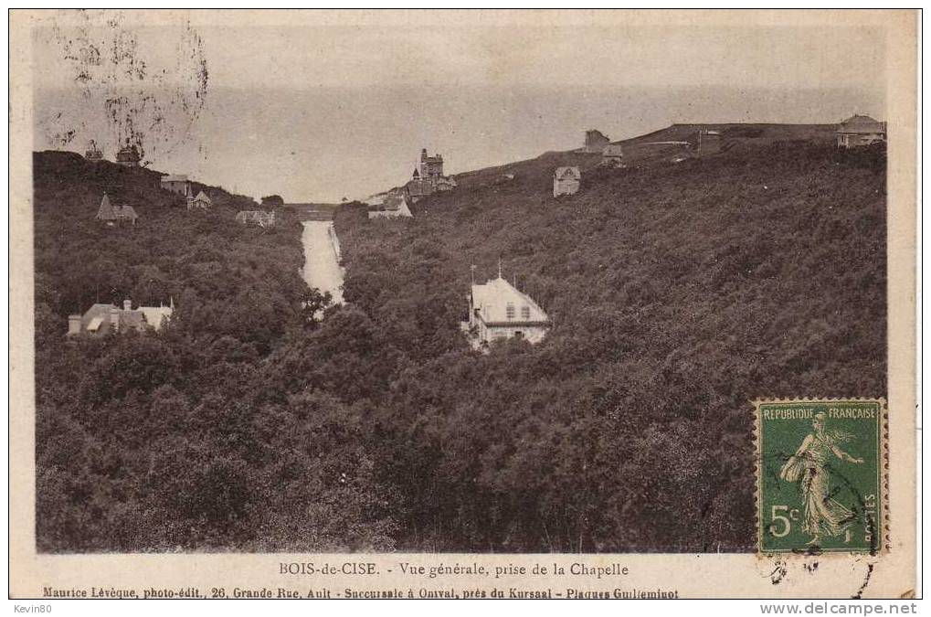
<svg viewBox="0 0 931 617">
<path fill-rule="evenodd" d="M 335 201 L 403 184 L 422 147 L 457 172 L 578 147 L 590 128 L 884 119 L 884 29 L 854 17 L 51 14 L 34 29 L 34 147 L 96 139 L 113 158 L 131 135 L 159 171 Z"/>
</svg>

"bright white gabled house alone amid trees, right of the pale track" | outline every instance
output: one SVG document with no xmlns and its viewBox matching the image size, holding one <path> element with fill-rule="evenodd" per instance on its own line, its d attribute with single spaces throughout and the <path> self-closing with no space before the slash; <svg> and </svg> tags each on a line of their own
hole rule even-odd
<svg viewBox="0 0 931 617">
<path fill-rule="evenodd" d="M 498 278 L 483 285 L 472 284 L 468 299 L 468 322 L 463 329 L 476 348 L 492 341 L 522 338 L 538 343 L 546 336 L 550 321 L 529 295 L 519 292 L 498 271 Z"/>
</svg>

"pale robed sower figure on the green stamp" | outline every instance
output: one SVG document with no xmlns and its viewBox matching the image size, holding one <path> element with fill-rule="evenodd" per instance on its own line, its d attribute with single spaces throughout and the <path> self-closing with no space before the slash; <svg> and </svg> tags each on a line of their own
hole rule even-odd
<svg viewBox="0 0 931 617">
<path fill-rule="evenodd" d="M 809 544 L 820 542 L 821 535 L 836 537 L 847 534 L 855 515 L 843 503 L 834 500 L 830 490 L 830 458 L 837 457 L 846 462 L 862 463 L 863 459 L 850 456 L 837 446 L 853 437 L 845 432 L 826 432 L 825 415 L 815 414 L 812 421 L 814 432 L 805 436 L 802 446 L 786 461 L 779 477 L 787 482 L 801 479 L 804 518 L 802 528 L 812 536 Z"/>
</svg>

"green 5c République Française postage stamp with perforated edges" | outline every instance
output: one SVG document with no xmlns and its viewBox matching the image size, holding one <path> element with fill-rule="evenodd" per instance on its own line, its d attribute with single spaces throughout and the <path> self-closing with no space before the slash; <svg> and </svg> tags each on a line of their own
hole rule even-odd
<svg viewBox="0 0 931 617">
<path fill-rule="evenodd" d="M 885 402 L 754 401 L 762 553 L 879 553 L 885 545 Z"/>
</svg>

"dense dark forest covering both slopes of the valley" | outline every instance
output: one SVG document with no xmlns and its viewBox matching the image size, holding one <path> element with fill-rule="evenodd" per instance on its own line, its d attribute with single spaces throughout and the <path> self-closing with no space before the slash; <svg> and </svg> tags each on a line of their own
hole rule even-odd
<svg viewBox="0 0 931 617">
<path fill-rule="evenodd" d="M 346 304 L 318 320 L 295 217 L 37 154 L 39 549 L 752 550 L 749 400 L 885 393 L 884 153 L 597 161 L 462 174 L 407 220 L 345 204 Z M 135 227 L 96 225 L 103 190 Z M 483 354 L 459 322 L 499 258 L 553 327 Z M 67 340 L 95 295 L 176 317 Z"/>
</svg>

